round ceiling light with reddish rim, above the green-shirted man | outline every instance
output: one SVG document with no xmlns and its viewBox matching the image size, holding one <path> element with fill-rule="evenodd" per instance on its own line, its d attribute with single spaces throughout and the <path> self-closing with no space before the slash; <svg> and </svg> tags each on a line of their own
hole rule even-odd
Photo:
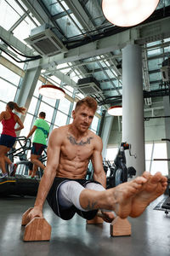
<svg viewBox="0 0 170 256">
<path fill-rule="evenodd" d="M 65 97 L 65 90 L 53 84 L 44 84 L 40 86 L 39 93 L 42 96 L 48 97 L 50 99 L 55 99 L 55 100 Z"/>
</svg>

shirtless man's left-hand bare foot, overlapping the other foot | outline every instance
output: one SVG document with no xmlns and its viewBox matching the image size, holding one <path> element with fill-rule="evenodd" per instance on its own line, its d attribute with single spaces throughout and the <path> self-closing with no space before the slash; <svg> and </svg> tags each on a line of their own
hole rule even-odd
<svg viewBox="0 0 170 256">
<path fill-rule="evenodd" d="M 148 176 L 136 177 L 131 182 L 122 183 L 113 189 L 106 190 L 106 202 L 110 205 L 110 210 L 116 212 L 120 218 L 127 218 L 132 212 L 133 198 L 139 194 L 148 179 Z M 109 209 L 109 207 L 105 207 L 105 209 Z"/>
</svg>

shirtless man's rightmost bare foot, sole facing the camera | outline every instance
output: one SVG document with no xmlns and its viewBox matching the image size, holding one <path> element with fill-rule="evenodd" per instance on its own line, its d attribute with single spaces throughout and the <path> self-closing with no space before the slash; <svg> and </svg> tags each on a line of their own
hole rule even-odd
<svg viewBox="0 0 170 256">
<path fill-rule="evenodd" d="M 143 177 L 146 177 L 148 181 L 140 192 L 133 196 L 132 211 L 129 214 L 133 218 L 142 214 L 150 202 L 162 195 L 167 188 L 167 177 L 162 176 L 161 172 L 156 172 L 154 176 L 144 172 Z"/>
</svg>

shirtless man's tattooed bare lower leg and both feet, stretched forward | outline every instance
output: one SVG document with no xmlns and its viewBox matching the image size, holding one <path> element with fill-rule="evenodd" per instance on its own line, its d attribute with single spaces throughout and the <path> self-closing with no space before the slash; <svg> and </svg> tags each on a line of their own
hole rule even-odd
<svg viewBox="0 0 170 256">
<path fill-rule="evenodd" d="M 131 182 L 122 183 L 105 191 L 83 189 L 80 194 L 80 205 L 88 211 L 94 209 L 111 210 L 121 218 L 127 218 L 129 215 L 138 217 L 144 212 L 150 201 L 154 201 L 163 194 L 166 187 L 166 177 L 161 174 L 150 176 L 149 172 L 144 172 L 143 176 L 136 177 Z M 142 207 L 136 213 L 139 205 Z"/>
</svg>

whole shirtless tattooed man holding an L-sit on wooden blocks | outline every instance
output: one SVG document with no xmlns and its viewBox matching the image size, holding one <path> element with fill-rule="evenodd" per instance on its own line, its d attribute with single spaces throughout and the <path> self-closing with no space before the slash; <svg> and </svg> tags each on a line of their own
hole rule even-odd
<svg viewBox="0 0 170 256">
<path fill-rule="evenodd" d="M 44 201 L 63 219 L 77 212 L 92 219 L 101 209 L 103 218 L 111 222 L 116 212 L 121 218 L 138 217 L 144 209 L 163 194 L 167 178 L 157 172 L 116 188 L 105 190 L 106 177 L 102 164 L 101 138 L 88 130 L 97 109 L 97 102 L 86 97 L 77 102 L 72 112 L 73 122 L 54 129 L 48 141 L 48 162 L 39 185 L 37 199 L 29 218 L 41 217 Z M 88 161 L 94 166 L 94 182 L 85 180 Z"/>
</svg>

